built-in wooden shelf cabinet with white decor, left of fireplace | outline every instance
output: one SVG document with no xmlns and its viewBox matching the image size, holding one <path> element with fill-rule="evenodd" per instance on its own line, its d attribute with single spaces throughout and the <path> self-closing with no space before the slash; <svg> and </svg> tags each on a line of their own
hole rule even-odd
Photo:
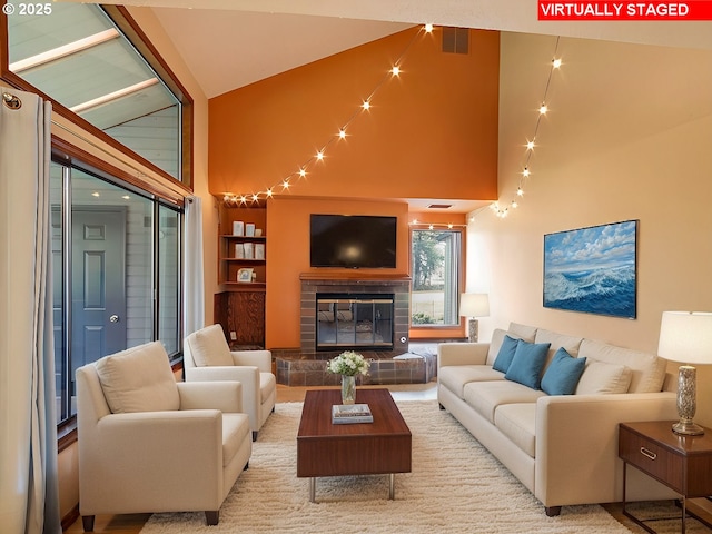
<svg viewBox="0 0 712 534">
<path fill-rule="evenodd" d="M 215 320 L 222 325 L 230 346 L 264 347 L 267 211 L 225 206 L 219 211 L 218 281 L 224 291 L 215 295 Z"/>
</svg>

